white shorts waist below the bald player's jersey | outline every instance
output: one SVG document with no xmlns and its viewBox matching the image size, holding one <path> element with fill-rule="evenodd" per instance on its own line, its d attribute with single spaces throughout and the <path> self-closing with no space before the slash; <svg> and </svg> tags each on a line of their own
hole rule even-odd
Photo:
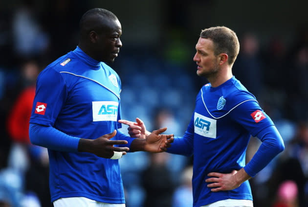
<svg viewBox="0 0 308 207">
<path fill-rule="evenodd" d="M 107 204 L 85 197 L 60 198 L 53 202 L 54 207 L 125 207 L 125 204 Z"/>
</svg>

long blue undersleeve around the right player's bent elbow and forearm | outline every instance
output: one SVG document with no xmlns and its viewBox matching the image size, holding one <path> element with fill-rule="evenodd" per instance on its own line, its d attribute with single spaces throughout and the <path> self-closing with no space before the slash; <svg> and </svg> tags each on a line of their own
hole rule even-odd
<svg viewBox="0 0 308 207">
<path fill-rule="evenodd" d="M 245 172 L 254 177 L 260 172 L 276 155 L 285 149 L 283 139 L 275 126 L 262 130 L 258 135 L 262 144 L 251 161 L 244 167 Z"/>
</svg>

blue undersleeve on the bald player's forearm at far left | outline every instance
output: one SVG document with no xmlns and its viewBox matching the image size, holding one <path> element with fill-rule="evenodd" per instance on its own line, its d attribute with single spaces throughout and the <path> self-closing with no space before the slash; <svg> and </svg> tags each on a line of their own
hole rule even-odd
<svg viewBox="0 0 308 207">
<path fill-rule="evenodd" d="M 54 127 L 37 124 L 30 124 L 29 137 L 32 144 L 66 152 L 77 152 L 81 139 L 68 136 Z"/>
</svg>

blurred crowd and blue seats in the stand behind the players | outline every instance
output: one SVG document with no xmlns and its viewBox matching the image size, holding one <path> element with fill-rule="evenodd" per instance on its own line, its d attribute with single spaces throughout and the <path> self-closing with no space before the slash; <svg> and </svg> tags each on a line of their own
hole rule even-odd
<svg viewBox="0 0 308 207">
<path fill-rule="evenodd" d="M 47 150 L 30 143 L 28 121 L 37 75 L 78 43 L 83 9 L 66 2 L 56 0 L 53 12 L 40 16 L 31 1 L 0 13 L 0 207 L 51 207 Z M 261 43 L 252 31 L 239 39 L 234 75 L 255 94 L 286 146 L 250 180 L 254 206 L 307 207 L 308 27 L 291 44 L 279 35 Z M 160 52 L 123 47 L 111 67 L 122 80 L 123 119 L 139 117 L 148 130 L 168 127 L 166 133 L 182 136 L 206 80 L 195 74 L 195 43 L 173 41 Z M 259 145 L 251 138 L 247 160 Z M 192 159 L 143 152 L 121 158 L 127 207 L 192 206 Z"/>
</svg>

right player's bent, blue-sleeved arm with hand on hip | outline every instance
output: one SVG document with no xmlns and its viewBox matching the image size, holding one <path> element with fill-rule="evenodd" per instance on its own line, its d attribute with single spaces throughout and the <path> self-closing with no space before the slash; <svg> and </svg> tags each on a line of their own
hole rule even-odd
<svg viewBox="0 0 308 207">
<path fill-rule="evenodd" d="M 254 112 L 258 112 L 260 117 L 255 117 Z M 251 134 L 262 141 L 256 154 L 246 166 L 239 171 L 223 174 L 211 172 L 206 179 L 208 187 L 215 187 L 211 190 L 232 190 L 239 187 L 246 180 L 254 177 L 260 172 L 275 156 L 285 149 L 283 139 L 272 120 L 267 116 L 259 104 L 255 101 L 247 101 L 238 107 L 231 115 L 242 117 L 238 122 L 242 124 Z M 256 118 L 258 120 L 256 120 Z M 261 119 L 261 120 L 260 120 Z M 258 132 L 259 131 L 259 132 Z"/>
</svg>

